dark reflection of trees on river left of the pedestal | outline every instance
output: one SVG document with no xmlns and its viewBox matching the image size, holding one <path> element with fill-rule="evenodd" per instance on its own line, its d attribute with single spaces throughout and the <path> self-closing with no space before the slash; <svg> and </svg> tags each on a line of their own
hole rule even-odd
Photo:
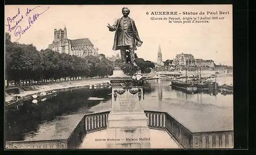
<svg viewBox="0 0 256 155">
<path fill-rule="evenodd" d="M 61 119 L 58 116 L 89 113 L 89 109 L 98 105 L 101 100 L 88 98 L 110 100 L 111 96 L 107 95 L 110 92 L 111 90 L 106 88 L 80 89 L 60 92 L 57 96 L 38 104 L 33 104 L 31 100 L 24 101 L 24 105 L 18 110 L 14 108 L 6 112 L 6 141 L 25 140 L 27 136 L 32 138 L 46 122 L 58 122 Z"/>
</svg>

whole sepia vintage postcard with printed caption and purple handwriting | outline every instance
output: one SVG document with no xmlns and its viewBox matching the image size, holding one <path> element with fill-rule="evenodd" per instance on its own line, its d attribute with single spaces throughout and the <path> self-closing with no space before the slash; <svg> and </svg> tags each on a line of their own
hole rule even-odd
<svg viewBox="0 0 256 155">
<path fill-rule="evenodd" d="M 233 148 L 232 5 L 5 6 L 5 149 Z"/>
</svg>

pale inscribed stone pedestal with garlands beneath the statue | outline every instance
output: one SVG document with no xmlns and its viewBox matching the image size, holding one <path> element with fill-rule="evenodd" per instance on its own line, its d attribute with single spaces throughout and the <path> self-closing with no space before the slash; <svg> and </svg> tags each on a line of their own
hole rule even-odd
<svg viewBox="0 0 256 155">
<path fill-rule="evenodd" d="M 108 117 L 107 148 L 151 148 L 150 128 L 143 108 L 143 84 L 116 67 L 110 76 L 112 110 Z"/>
</svg>

